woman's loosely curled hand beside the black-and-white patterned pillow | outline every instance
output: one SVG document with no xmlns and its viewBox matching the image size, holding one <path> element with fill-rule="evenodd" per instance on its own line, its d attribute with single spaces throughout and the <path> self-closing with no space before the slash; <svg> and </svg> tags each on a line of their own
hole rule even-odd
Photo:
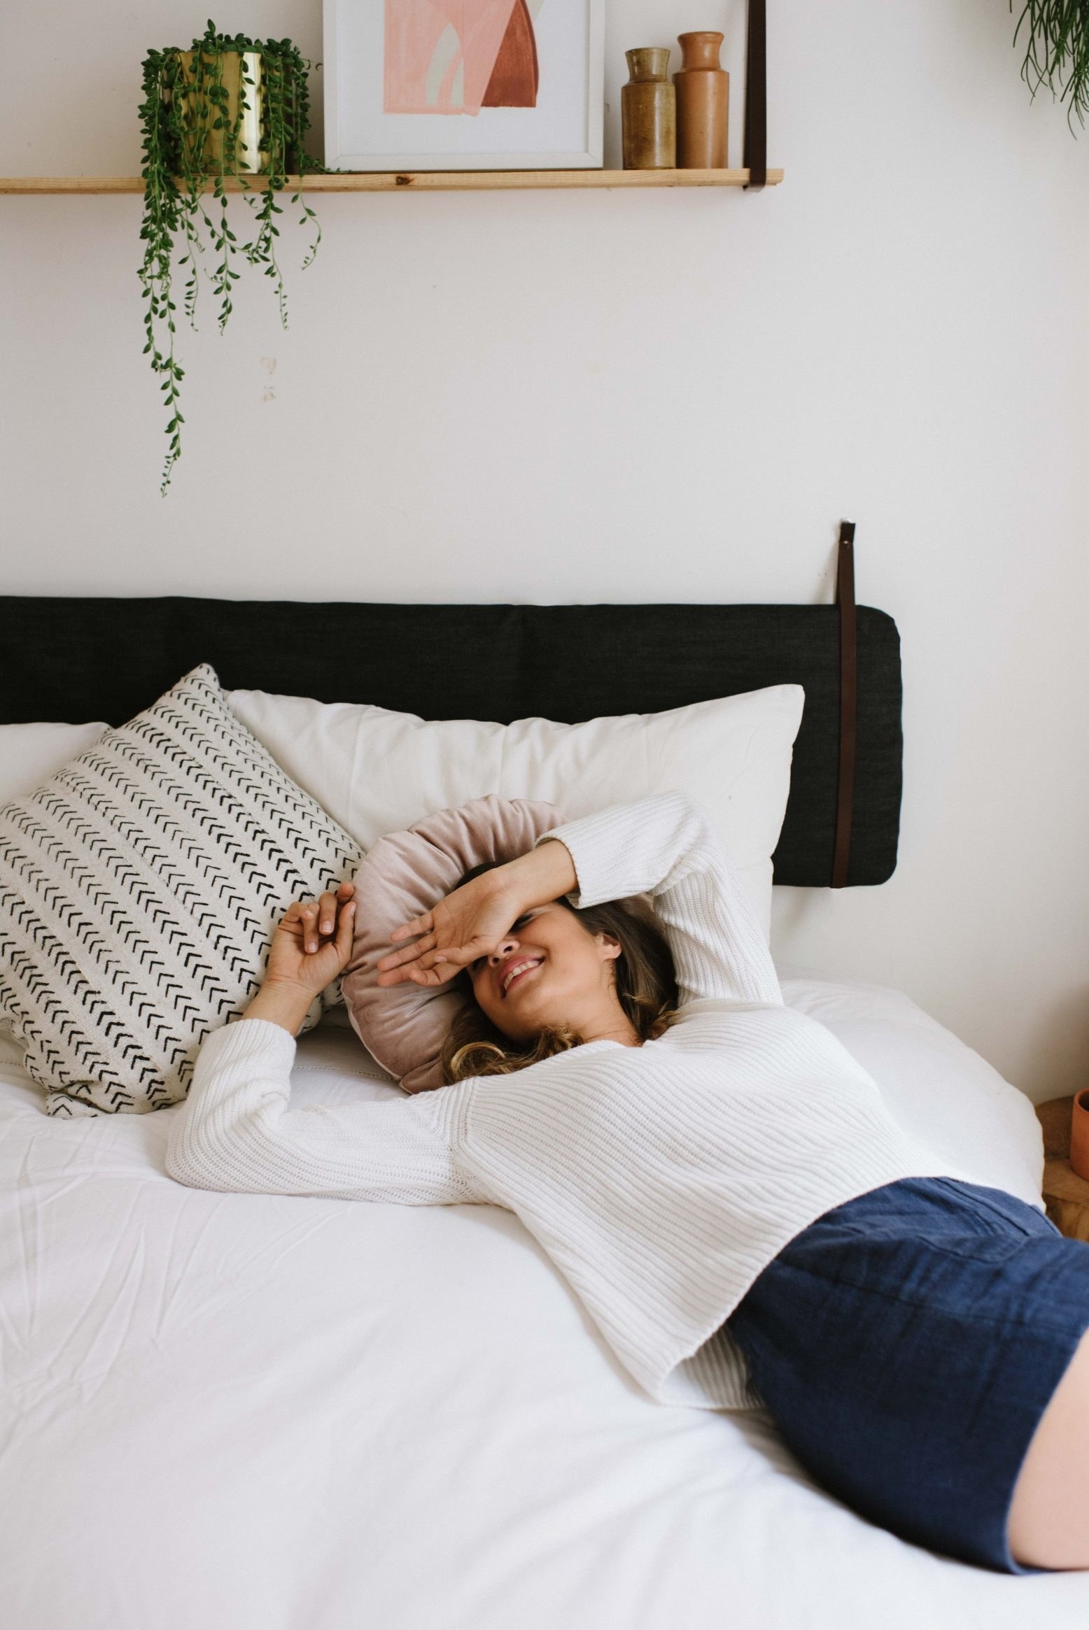
<svg viewBox="0 0 1089 1630">
<path fill-rule="evenodd" d="M 354 883 L 341 883 L 320 900 L 297 900 L 287 908 L 246 1019 L 267 1019 L 295 1035 L 315 996 L 333 985 L 352 955 L 354 895 Z"/>
</svg>

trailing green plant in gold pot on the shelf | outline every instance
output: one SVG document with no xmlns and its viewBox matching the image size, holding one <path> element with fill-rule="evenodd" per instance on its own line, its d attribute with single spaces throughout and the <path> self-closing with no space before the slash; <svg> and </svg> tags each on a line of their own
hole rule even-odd
<svg viewBox="0 0 1089 1630">
<path fill-rule="evenodd" d="M 245 52 L 256 52 L 258 65 Z M 310 225 L 311 243 L 303 259 L 310 266 L 321 241 L 318 217 L 302 196 L 306 174 L 323 171 L 303 150 L 310 127 L 310 91 L 306 68 L 290 39 L 249 39 L 246 34 L 220 34 L 209 23 L 204 36 L 194 39 L 191 52 L 171 46 L 148 51 L 143 59 L 143 101 L 140 129 L 143 135 L 143 355 L 152 359 L 152 372 L 161 375 L 168 412 L 168 452 L 161 492 L 181 456 L 181 381 L 184 368 L 174 354 L 174 275 L 186 269 L 183 310 L 196 328 L 199 293 L 199 258 L 212 248 L 210 282 L 218 302 L 220 333 L 231 313 L 231 290 L 240 279 L 235 269 L 241 254 L 249 266 L 262 267 L 276 285 L 280 323 L 287 328 L 287 295 L 277 258 L 280 230 L 276 217 L 284 214 L 277 194 L 287 178 L 298 174 L 298 191 L 292 204 L 302 205 L 298 225 Z M 256 67 L 256 72 L 254 72 Z M 246 116 L 259 111 L 256 150 L 246 145 Z M 249 127 L 253 121 L 249 121 Z M 249 176 L 261 173 L 262 186 L 251 191 Z M 253 212 L 253 236 L 238 243 L 227 212 L 227 178 L 235 176 Z M 210 205 L 205 204 L 207 181 L 214 181 Z M 174 269 L 174 254 L 178 267 Z"/>
</svg>

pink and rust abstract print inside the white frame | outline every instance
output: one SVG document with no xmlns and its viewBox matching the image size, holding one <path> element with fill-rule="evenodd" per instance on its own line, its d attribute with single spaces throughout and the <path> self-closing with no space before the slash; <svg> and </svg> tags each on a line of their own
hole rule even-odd
<svg viewBox="0 0 1089 1630">
<path fill-rule="evenodd" d="M 385 0 L 386 112 L 536 108 L 541 0 Z"/>
</svg>

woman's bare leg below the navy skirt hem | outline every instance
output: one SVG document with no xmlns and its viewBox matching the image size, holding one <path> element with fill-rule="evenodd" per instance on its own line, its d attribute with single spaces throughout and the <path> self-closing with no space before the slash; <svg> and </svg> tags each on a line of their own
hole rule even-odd
<svg viewBox="0 0 1089 1630">
<path fill-rule="evenodd" d="M 1027 1568 L 1089 1568 L 1089 1332 L 1029 1444 L 1007 1534 Z"/>
</svg>

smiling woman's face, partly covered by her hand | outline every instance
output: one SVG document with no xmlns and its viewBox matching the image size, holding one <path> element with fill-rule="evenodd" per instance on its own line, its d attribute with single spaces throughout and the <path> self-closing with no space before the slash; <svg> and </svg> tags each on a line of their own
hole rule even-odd
<svg viewBox="0 0 1089 1630">
<path fill-rule="evenodd" d="M 520 916 L 489 957 L 471 963 L 470 978 L 478 1004 L 512 1042 L 562 1025 L 587 1033 L 616 1022 L 619 954 L 611 934 L 587 932 L 553 901 Z"/>
</svg>

